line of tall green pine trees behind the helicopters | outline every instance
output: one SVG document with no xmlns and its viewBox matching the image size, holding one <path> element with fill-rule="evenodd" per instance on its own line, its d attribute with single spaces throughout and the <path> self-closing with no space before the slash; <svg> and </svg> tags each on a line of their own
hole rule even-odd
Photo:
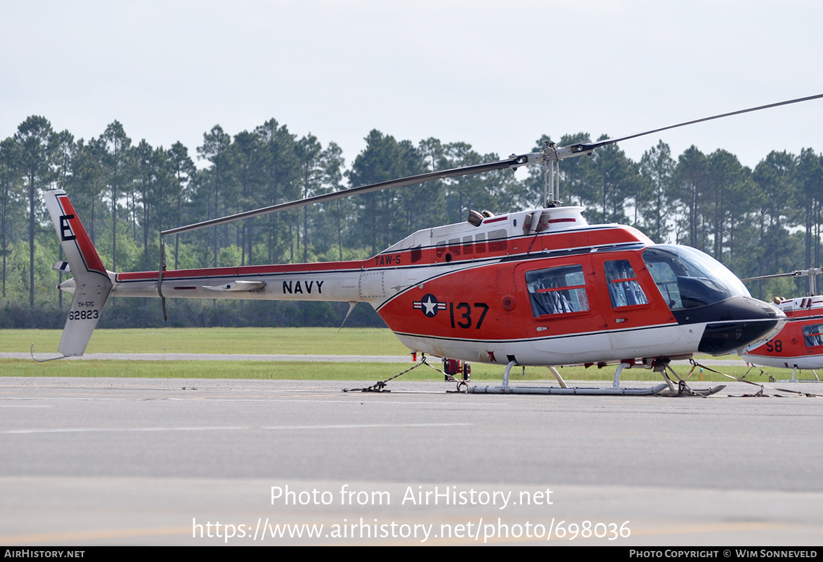
<svg viewBox="0 0 823 562">
<path fill-rule="evenodd" d="M 586 132 L 567 134 L 558 144 L 589 138 Z M 551 141 L 543 135 L 533 150 Z M 500 160 L 467 142 L 398 141 L 376 130 L 365 142 L 346 166 L 336 143 L 323 146 L 314 135 L 295 134 L 275 119 L 233 136 L 215 125 L 191 153 L 181 142 L 168 148 L 145 140 L 135 143 L 118 121 L 85 140 L 54 131 L 47 118 L 26 118 L 0 142 L 0 254 L 7 316 L 0 318 L 0 327 L 62 323 L 59 309 L 66 304 L 54 286 L 63 276 L 52 270 L 60 249 L 40 197 L 44 189 L 66 190 L 107 267 L 147 270 L 159 267 L 160 230 Z M 170 268 L 188 268 L 366 258 L 415 230 L 464 221 L 470 209 L 504 213 L 541 207 L 544 181 L 539 167 L 523 179 L 502 170 L 260 216 L 167 239 L 166 262 Z M 724 150 L 704 154 L 691 146 L 675 157 L 661 141 L 635 162 L 610 145 L 593 156 L 560 163 L 560 196 L 566 204 L 586 207 L 590 223 L 619 222 L 657 242 L 688 244 L 737 276 L 821 263 L 823 156 L 811 148 L 799 155 L 772 151 L 751 170 Z M 750 289 L 760 298 L 805 292 L 805 286 L 788 280 Z M 148 319 L 152 314 L 140 312 L 145 304 L 117 306 L 138 324 L 155 322 Z M 221 322 L 216 317 L 244 323 L 255 314 L 259 318 L 253 323 L 284 318 L 286 323 L 332 323 L 337 314 L 327 304 L 281 303 L 272 309 L 255 304 L 253 313 L 236 303 L 216 305 L 218 313 L 215 306 L 182 306 L 183 322 L 197 325 Z M 359 322 L 379 322 L 375 318 L 363 313 Z M 109 325 L 116 322 L 109 320 Z"/>
</svg>

